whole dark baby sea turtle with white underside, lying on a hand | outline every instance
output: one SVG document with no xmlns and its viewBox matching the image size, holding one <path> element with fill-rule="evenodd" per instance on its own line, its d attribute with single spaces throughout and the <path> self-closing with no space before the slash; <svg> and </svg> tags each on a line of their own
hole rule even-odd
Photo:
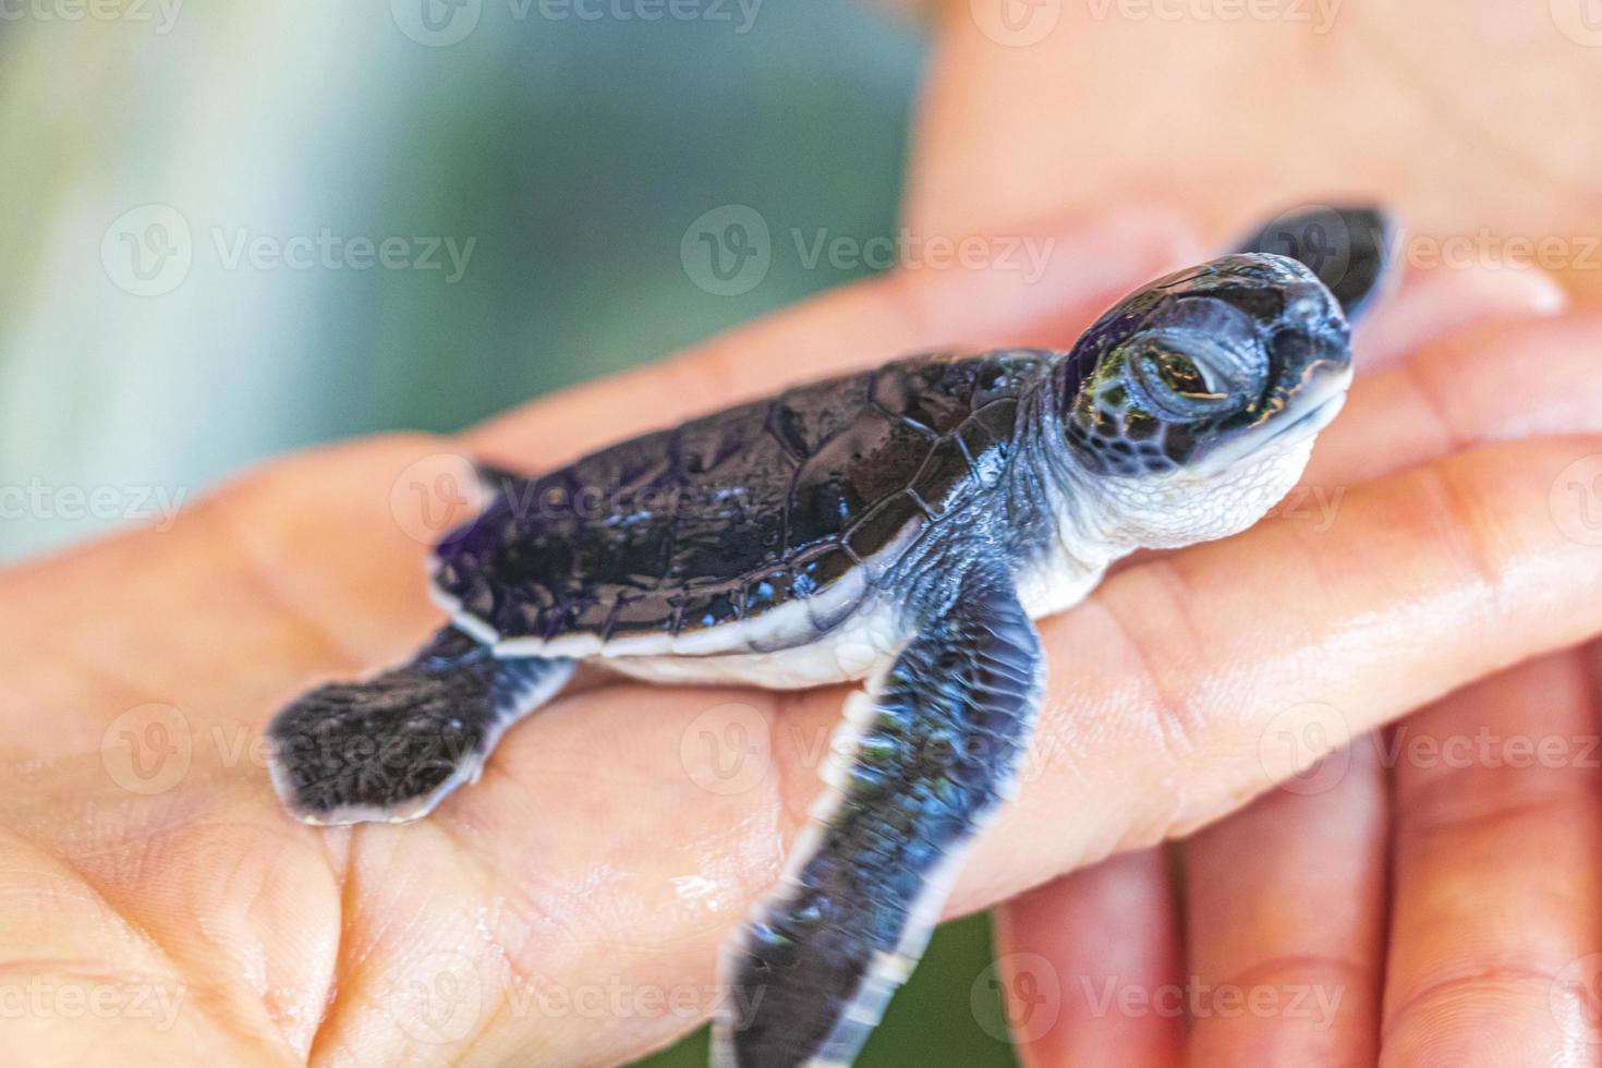
<svg viewBox="0 0 1602 1068">
<path fill-rule="evenodd" d="M 673 682 L 867 679 L 852 767 L 726 954 L 742 1014 L 714 1054 L 846 1063 L 1019 772 L 1045 674 L 1033 620 L 1115 559 L 1235 533 L 1290 490 L 1344 400 L 1341 304 L 1379 285 L 1384 234 L 1363 208 L 1285 216 L 1069 352 L 916 355 L 498 474 L 434 554 L 450 623 L 410 663 L 285 708 L 272 781 L 312 823 L 421 817 L 580 660 Z"/>
</svg>

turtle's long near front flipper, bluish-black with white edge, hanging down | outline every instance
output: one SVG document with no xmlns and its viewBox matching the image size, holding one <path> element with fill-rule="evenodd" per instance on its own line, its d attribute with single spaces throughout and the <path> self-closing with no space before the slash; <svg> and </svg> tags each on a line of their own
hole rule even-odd
<svg viewBox="0 0 1602 1068">
<path fill-rule="evenodd" d="M 863 709 L 833 809 L 729 948 L 716 1065 L 851 1062 L 923 953 L 963 847 L 1009 793 L 1040 676 L 1011 580 L 969 576 L 926 621 Z"/>
</svg>

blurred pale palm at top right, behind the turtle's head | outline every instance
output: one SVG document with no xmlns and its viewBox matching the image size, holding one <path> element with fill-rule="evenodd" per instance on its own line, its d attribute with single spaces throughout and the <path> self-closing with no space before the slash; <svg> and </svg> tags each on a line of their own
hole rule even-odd
<svg viewBox="0 0 1602 1068">
<path fill-rule="evenodd" d="M 1392 207 L 1418 263 L 1602 296 L 1584 0 L 944 0 L 905 223 L 1006 232 L 1139 195 L 1224 242 L 1266 205 Z M 1511 243 L 1509 239 L 1520 243 Z M 1543 251 L 1544 243 L 1544 251 Z"/>
</svg>

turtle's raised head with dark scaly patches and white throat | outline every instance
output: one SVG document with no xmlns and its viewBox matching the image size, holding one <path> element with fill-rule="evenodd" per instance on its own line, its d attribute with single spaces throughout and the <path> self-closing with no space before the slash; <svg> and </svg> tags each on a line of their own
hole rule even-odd
<svg viewBox="0 0 1602 1068">
<path fill-rule="evenodd" d="M 1301 477 L 1352 379 L 1341 306 L 1270 255 L 1171 274 L 1102 315 L 1057 367 L 1077 469 L 1147 548 L 1254 524 Z"/>
</svg>

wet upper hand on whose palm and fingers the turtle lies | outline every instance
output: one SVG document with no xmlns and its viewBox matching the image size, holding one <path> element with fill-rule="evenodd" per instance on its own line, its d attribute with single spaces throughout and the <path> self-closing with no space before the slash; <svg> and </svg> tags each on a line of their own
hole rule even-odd
<svg viewBox="0 0 1602 1068">
<path fill-rule="evenodd" d="M 907 349 L 1061 344 L 1195 258 L 1176 232 L 1112 213 L 1070 226 L 1033 282 L 862 283 L 461 440 L 306 453 L 170 532 L 0 576 L 0 945 L 29 994 L 13 1052 L 612 1063 L 694 1026 L 716 1007 L 719 942 L 806 821 L 841 692 L 607 682 L 519 725 L 429 820 L 301 826 L 268 785 L 266 717 L 437 621 L 409 480 L 453 450 L 561 463 L 713 397 Z M 1304 725 L 1296 709 L 1342 709 L 1360 732 L 1602 631 L 1586 594 L 1602 551 L 1564 533 L 1551 493 L 1602 453 L 1602 323 L 1551 311 L 1530 283 L 1480 287 L 1474 307 L 1400 295 L 1375 331 L 1459 328 L 1354 387 L 1309 476 L 1350 487 L 1333 525 L 1288 516 L 1129 567 L 1045 623 L 1038 753 L 953 913 L 1240 807 L 1296 770 L 1259 759 L 1266 730 Z M 1485 445 L 1532 432 L 1546 437 Z M 721 749 L 729 727 L 755 749 Z M 74 1014 L 64 991 L 109 1009 Z"/>
</svg>

